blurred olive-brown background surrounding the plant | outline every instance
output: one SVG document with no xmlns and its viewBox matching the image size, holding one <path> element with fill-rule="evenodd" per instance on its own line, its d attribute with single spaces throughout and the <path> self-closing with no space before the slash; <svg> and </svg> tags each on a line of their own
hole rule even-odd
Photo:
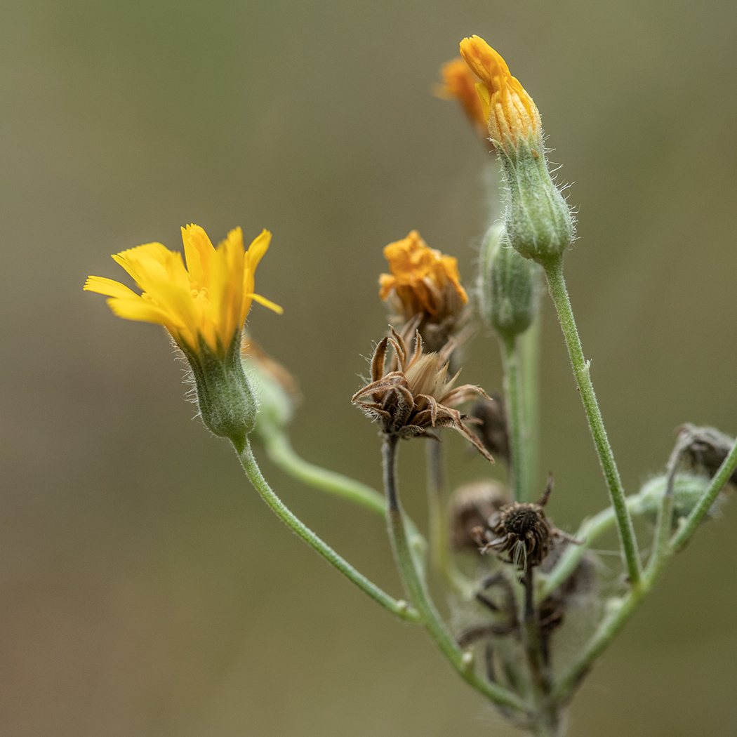
<svg viewBox="0 0 737 737">
<path fill-rule="evenodd" d="M 513 734 L 418 628 L 281 525 L 193 421 L 156 326 L 82 292 L 179 227 L 262 227 L 256 338 L 297 376 L 293 442 L 380 483 L 349 405 L 385 329 L 381 249 L 458 256 L 488 160 L 430 94 L 478 33 L 542 111 L 579 210 L 566 273 L 626 488 L 684 421 L 737 433 L 737 6 L 5 0 L 0 24 L 0 731 L 9 737 Z M 607 503 L 551 304 L 542 464 L 575 529 Z M 464 379 L 500 384 L 481 333 Z M 486 472 L 446 440 L 453 481 Z M 402 489 L 422 516 L 422 442 Z M 290 481 L 287 503 L 399 593 L 379 520 Z M 543 478 L 540 483 L 542 485 Z M 737 731 L 737 510 L 705 525 L 595 668 L 570 735 Z"/>
</svg>

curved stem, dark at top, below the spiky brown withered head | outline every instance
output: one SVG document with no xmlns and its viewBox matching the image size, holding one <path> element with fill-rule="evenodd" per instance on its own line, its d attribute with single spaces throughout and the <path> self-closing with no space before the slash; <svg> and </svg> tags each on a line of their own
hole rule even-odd
<svg viewBox="0 0 737 737">
<path fill-rule="evenodd" d="M 396 436 L 385 436 L 382 456 L 388 533 L 405 589 L 412 603 L 417 607 L 427 633 L 461 678 L 495 704 L 525 712 L 526 707 L 522 699 L 503 686 L 478 676 L 470 653 L 461 651 L 453 640 L 430 598 L 425 582 L 419 575 L 408 541 L 404 513 L 397 493 L 397 440 Z"/>
</svg>

